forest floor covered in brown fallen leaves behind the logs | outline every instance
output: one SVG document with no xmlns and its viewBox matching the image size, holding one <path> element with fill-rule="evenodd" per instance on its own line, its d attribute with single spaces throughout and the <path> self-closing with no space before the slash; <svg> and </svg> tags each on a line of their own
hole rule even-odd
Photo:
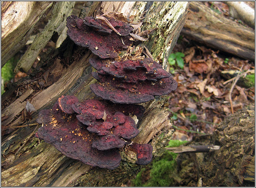
<svg viewBox="0 0 256 188">
<path fill-rule="evenodd" d="M 50 47 L 55 47 L 54 45 L 53 42 L 49 42 L 44 51 Z M 17 59 L 21 57 L 26 48 L 27 46 L 12 59 L 13 62 L 7 63 L 7 66 L 17 63 Z M 35 61 L 31 71 L 39 60 L 40 56 Z M 173 140 L 189 142 L 197 134 L 210 134 L 226 116 L 233 114 L 249 103 L 254 103 L 254 69 L 254 62 L 208 48 L 180 36 L 167 67 L 167 71 L 172 73 L 174 80 L 178 82 L 177 90 L 167 96 L 168 102 L 165 104 L 170 118 L 174 119 Z M 10 75 L 12 71 L 9 69 L 8 71 L 6 74 L 10 76 L 9 82 L 16 82 L 27 75 L 22 72 Z M 3 76 L 3 69 L 1 72 Z M 7 82 L 5 82 L 6 84 Z M 40 83 L 36 83 L 36 86 L 39 90 L 42 89 Z M 1 94 L 2 92 L 3 87 Z M 173 154 L 166 154 L 161 159 L 169 160 L 168 165 L 172 165 L 173 158 Z M 156 159 L 156 162 L 161 159 Z M 152 164 L 155 164 L 154 161 Z M 130 180 L 123 186 L 147 185 L 153 176 L 152 164 L 143 168 L 143 174 L 139 174 L 139 184 L 136 183 L 137 180 Z M 161 168 L 163 169 L 163 167 Z M 170 168 L 165 169 L 170 170 Z M 168 174 L 167 178 L 170 178 Z M 170 182 L 151 185 L 170 186 Z"/>
</svg>

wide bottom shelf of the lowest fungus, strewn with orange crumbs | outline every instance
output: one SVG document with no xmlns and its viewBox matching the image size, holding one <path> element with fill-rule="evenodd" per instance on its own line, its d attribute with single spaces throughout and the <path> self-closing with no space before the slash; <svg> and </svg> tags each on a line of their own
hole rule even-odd
<svg viewBox="0 0 256 188">
<path fill-rule="evenodd" d="M 55 108 L 54 108 L 55 107 Z M 35 136 L 44 139 L 45 142 L 53 145 L 64 155 L 82 161 L 83 163 L 99 166 L 101 168 L 114 169 L 119 166 L 121 156 L 117 149 L 100 151 L 92 147 L 93 140 L 97 138 L 94 133 L 90 133 L 82 128 L 75 115 L 65 114 L 56 111 L 57 105 L 54 105 L 52 110 L 43 110 L 40 112 L 40 118 L 37 122 L 42 120 L 52 119 L 42 124 Z M 56 114 L 58 112 L 62 115 L 63 122 L 57 121 Z M 44 118 L 42 118 L 44 116 Z M 56 118 L 56 119 L 55 119 Z"/>
</svg>

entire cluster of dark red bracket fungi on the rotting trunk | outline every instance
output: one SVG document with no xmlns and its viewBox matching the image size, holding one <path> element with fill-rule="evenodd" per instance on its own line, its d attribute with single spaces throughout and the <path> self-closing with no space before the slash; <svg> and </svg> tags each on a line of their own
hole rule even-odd
<svg viewBox="0 0 256 188">
<path fill-rule="evenodd" d="M 113 59 L 132 44 L 130 24 L 109 15 L 84 19 L 71 15 L 67 27 L 67 35 L 76 45 L 98 56 L 89 60 L 97 70 L 92 75 L 99 81 L 90 88 L 107 101 L 79 102 L 75 96 L 61 96 L 52 109 L 39 112 L 37 122 L 42 127 L 36 137 L 92 166 L 116 168 L 121 161 L 119 148 L 124 146 L 136 153 L 136 164 L 150 163 L 152 146 L 131 141 L 139 133 L 131 116 L 142 117 L 145 109 L 138 103 L 174 91 L 177 82 L 150 58 Z"/>
</svg>

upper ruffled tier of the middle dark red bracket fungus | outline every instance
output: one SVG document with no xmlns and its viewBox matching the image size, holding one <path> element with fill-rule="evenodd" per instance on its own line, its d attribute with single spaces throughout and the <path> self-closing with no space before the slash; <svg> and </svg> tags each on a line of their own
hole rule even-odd
<svg viewBox="0 0 256 188">
<path fill-rule="evenodd" d="M 145 80 L 157 81 L 171 76 L 169 72 L 163 70 L 161 65 L 150 58 L 121 62 L 91 58 L 89 63 L 97 69 L 98 73 L 122 78 L 122 82 L 127 83 L 137 83 Z"/>
</svg>

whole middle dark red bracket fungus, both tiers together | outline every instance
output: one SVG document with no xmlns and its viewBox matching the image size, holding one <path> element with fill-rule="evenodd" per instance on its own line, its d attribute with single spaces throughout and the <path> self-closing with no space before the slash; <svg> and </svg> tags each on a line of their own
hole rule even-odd
<svg viewBox="0 0 256 188">
<path fill-rule="evenodd" d="M 98 72 L 93 77 L 100 84 L 91 84 L 94 94 L 114 103 L 136 104 L 169 94 L 176 90 L 177 82 L 170 73 L 150 58 L 107 63 L 90 60 Z"/>
</svg>

